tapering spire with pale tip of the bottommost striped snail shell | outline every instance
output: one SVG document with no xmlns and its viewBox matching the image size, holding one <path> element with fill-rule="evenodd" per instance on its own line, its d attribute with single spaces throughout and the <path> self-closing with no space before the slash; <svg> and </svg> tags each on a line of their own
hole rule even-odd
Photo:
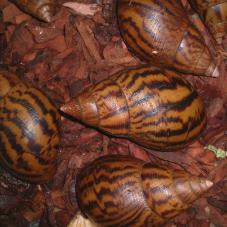
<svg viewBox="0 0 227 227">
<path fill-rule="evenodd" d="M 213 182 L 185 171 L 147 163 L 142 174 L 143 191 L 149 207 L 164 219 L 175 217 L 213 186 Z"/>
</svg>

